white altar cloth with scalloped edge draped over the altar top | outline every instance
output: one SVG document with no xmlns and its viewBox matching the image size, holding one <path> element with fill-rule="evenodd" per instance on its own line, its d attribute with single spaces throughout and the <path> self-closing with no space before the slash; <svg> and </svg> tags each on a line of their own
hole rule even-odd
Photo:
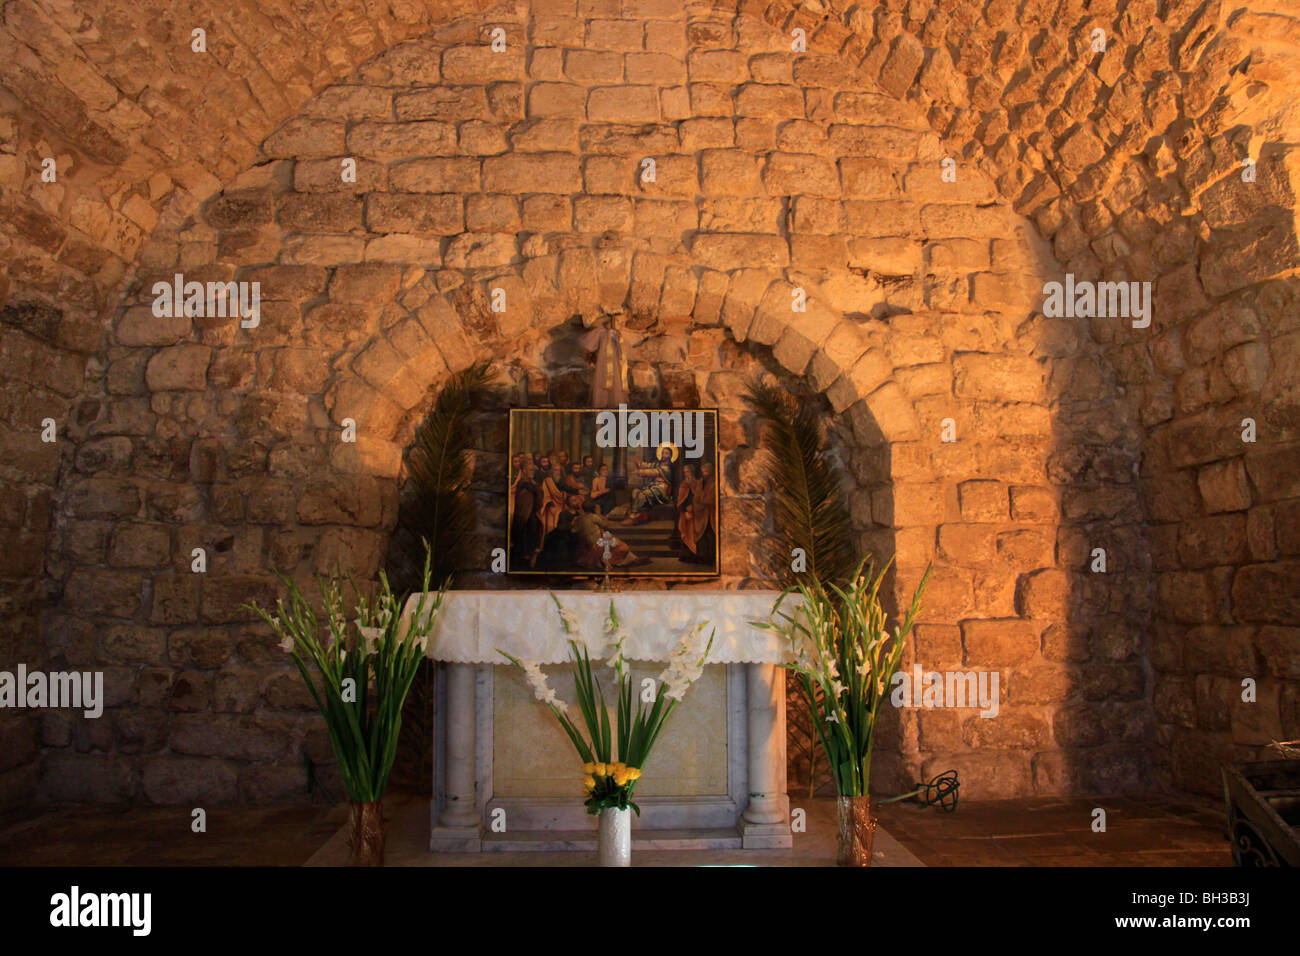
<svg viewBox="0 0 1300 956">
<path fill-rule="evenodd" d="M 498 650 L 537 663 L 569 659 L 568 635 L 555 601 L 577 620 L 581 635 L 604 637 L 610 601 L 628 631 L 624 657 L 666 661 L 682 633 L 699 622 L 715 630 L 708 663 L 784 663 L 785 640 L 750 622 L 770 620 L 776 591 L 448 591 L 429 636 L 428 656 L 452 663 L 508 663 Z M 415 613 L 419 594 L 407 600 Z M 429 598 L 426 598 L 428 601 Z M 786 598 L 786 602 L 796 601 Z"/>
</svg>

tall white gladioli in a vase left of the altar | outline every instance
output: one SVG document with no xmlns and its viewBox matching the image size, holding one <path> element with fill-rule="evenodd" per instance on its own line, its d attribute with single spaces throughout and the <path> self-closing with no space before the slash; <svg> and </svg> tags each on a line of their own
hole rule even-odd
<svg viewBox="0 0 1300 956">
<path fill-rule="evenodd" d="M 428 554 L 428 553 L 426 553 Z M 367 851 L 382 861 L 382 819 L 378 801 L 402 731 L 402 705 L 424 659 L 446 585 L 429 594 L 430 562 L 412 614 L 400 613 L 402 600 L 380 574 L 378 592 L 367 598 L 352 583 L 355 610 L 348 627 L 343 588 L 338 579 L 317 579 L 325 619 L 320 620 L 298 583 L 280 575 L 289 592 L 276 602 L 274 614 L 256 604 L 256 611 L 280 637 L 280 649 L 292 656 L 298 672 L 325 718 L 343 786 L 352 801 L 354 860 L 374 862 L 359 848 L 360 840 L 377 842 Z M 361 836 L 360 831 L 367 835 Z"/>
</svg>

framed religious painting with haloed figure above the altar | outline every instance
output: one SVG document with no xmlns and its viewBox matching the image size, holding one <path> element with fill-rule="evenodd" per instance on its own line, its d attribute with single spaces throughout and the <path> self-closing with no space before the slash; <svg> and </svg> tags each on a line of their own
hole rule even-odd
<svg viewBox="0 0 1300 956">
<path fill-rule="evenodd" d="M 507 571 L 716 578 L 716 408 L 512 408 Z"/>
</svg>

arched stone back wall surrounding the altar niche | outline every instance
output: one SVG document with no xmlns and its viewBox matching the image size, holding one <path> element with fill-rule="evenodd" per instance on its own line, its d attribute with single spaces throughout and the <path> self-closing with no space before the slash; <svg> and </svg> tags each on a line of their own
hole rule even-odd
<svg viewBox="0 0 1300 956">
<path fill-rule="evenodd" d="M 287 795 L 306 701 L 239 605 L 272 600 L 272 567 L 372 575 L 403 450 L 446 371 L 490 355 L 536 373 L 560 329 L 607 313 L 637 332 L 633 385 L 719 405 L 727 447 L 754 441 L 742 345 L 824 393 L 863 449 L 845 455 L 862 545 L 890 554 L 897 540 L 909 587 L 936 563 L 920 659 L 1005 671 L 1000 721 L 905 715 L 910 766 L 893 775 L 957 760 L 972 792 L 1074 786 L 1063 754 L 1108 744 L 1053 730 L 1082 691 L 1062 672 L 1070 581 L 1050 355 L 1035 355 L 1026 306 L 1035 256 L 1006 238 L 1024 224 L 978 170 L 941 181 L 919 116 L 760 21 L 534 21 L 533 48 L 507 29 L 502 53 L 482 42 L 490 26 L 454 23 L 328 88 L 200 217 L 142 250 L 84 399 L 96 415 L 69 444 L 51 562 L 51 641 L 105 635 L 84 649 L 112 669 L 117 726 L 47 740 L 65 745 L 47 757 L 48 792 L 94 765 L 144 799 L 200 784 L 260 799 L 272 774 Z M 260 282 L 260 325 L 156 317 L 153 282 L 176 271 Z M 341 441 L 347 419 L 356 444 Z M 944 419 L 958 441 L 941 441 Z M 729 503 L 754 488 L 738 464 L 724 479 L 738 579 L 760 541 Z M 482 541 L 481 564 L 499 544 Z M 211 554 L 203 575 L 194 546 Z M 1034 689 L 1048 672 L 1052 689 Z M 1140 682 L 1096 696 L 1144 726 Z M 1078 773 L 1135 786 L 1136 745 L 1109 748 Z"/>
</svg>

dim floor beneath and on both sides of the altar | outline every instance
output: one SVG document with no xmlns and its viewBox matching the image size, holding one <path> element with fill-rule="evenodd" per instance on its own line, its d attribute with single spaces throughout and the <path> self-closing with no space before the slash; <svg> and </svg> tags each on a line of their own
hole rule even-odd
<svg viewBox="0 0 1300 956">
<path fill-rule="evenodd" d="M 833 814 L 829 801 L 816 804 L 809 814 L 809 834 L 797 838 L 789 853 L 741 853 L 734 861 L 734 852 L 664 853 L 662 858 L 645 853 L 637 858 L 642 864 L 664 865 L 829 864 Z M 1092 831 L 1096 806 L 1106 810 L 1105 832 Z M 436 860 L 420 845 L 426 836 L 425 813 L 422 803 L 413 799 L 390 800 L 389 847 L 394 865 L 545 865 L 577 862 L 581 856 L 489 853 L 484 856 L 491 860 L 477 855 Z M 1210 801 L 1170 797 L 962 801 L 956 813 L 914 804 L 879 806 L 878 813 L 888 834 L 876 847 L 885 851 L 881 865 L 907 865 L 911 855 L 927 866 L 1231 865 L 1223 813 Z M 0 866 L 298 866 L 309 860 L 332 865 L 346 860 L 341 836 L 346 822 L 343 806 L 212 809 L 207 832 L 195 834 L 186 809 L 49 806 L 0 819 Z M 910 852 L 897 852 L 898 844 Z"/>
</svg>

